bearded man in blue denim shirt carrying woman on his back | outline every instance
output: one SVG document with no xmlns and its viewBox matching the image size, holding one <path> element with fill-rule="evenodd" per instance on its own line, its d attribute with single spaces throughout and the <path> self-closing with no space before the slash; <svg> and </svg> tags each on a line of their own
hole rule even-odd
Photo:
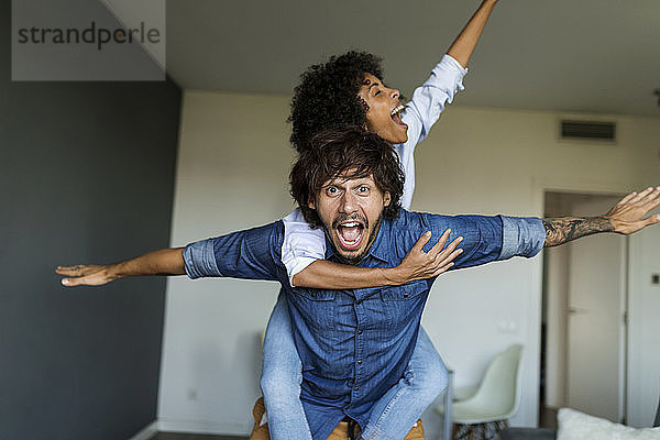
<svg viewBox="0 0 660 440">
<path fill-rule="evenodd" d="M 408 212 L 399 209 L 404 188 L 399 164 L 381 138 L 361 129 L 329 131 L 310 146 L 293 167 L 290 188 L 309 224 L 324 231 L 329 261 L 387 270 L 406 253 L 432 253 L 430 244 L 417 243 L 420 234 L 450 230 L 450 238 L 462 238 L 463 252 L 453 266 L 462 268 L 514 255 L 534 256 L 543 245 L 593 233 L 629 234 L 660 221 L 660 216 L 644 218 L 660 205 L 660 187 L 632 193 L 595 218 Z M 352 431 L 344 417 L 363 427 L 374 403 L 404 377 L 435 278 L 385 288 L 296 288 L 280 261 L 283 241 L 284 224 L 277 221 L 185 249 L 155 251 L 108 266 L 59 267 L 57 273 L 69 276 L 63 279 L 67 286 L 163 273 L 279 282 L 302 362 L 301 399 L 312 437 L 341 438 L 341 432 Z"/>
</svg>

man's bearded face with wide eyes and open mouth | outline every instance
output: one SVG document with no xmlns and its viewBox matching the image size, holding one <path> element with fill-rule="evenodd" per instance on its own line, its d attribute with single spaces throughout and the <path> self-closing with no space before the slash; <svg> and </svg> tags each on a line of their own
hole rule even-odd
<svg viewBox="0 0 660 440">
<path fill-rule="evenodd" d="M 316 209 L 338 254 L 355 264 L 376 238 L 383 209 L 389 202 L 389 193 L 383 194 L 370 175 L 326 182 L 309 208 Z"/>
</svg>

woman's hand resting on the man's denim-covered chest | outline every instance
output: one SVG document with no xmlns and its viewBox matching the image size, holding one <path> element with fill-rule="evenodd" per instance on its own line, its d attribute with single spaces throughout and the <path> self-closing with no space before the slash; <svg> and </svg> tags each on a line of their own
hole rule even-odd
<svg viewBox="0 0 660 440">
<path fill-rule="evenodd" d="M 395 283 L 405 284 L 416 279 L 432 278 L 449 271 L 454 265 L 453 260 L 463 252 L 462 249 L 457 249 L 463 241 L 462 237 L 457 238 L 444 250 L 442 249 L 447 240 L 449 240 L 450 232 L 450 229 L 444 231 L 438 243 L 429 252 L 424 252 L 424 246 L 431 239 L 431 231 L 421 235 L 417 243 L 415 243 L 415 246 L 404 257 L 402 264 L 394 267 L 394 271 L 396 271 Z"/>
</svg>

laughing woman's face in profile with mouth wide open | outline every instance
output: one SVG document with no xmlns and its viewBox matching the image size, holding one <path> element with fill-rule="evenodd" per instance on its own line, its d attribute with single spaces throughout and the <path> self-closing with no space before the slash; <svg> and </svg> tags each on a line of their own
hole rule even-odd
<svg viewBox="0 0 660 440">
<path fill-rule="evenodd" d="M 400 118 L 404 109 L 399 91 L 389 89 L 372 74 L 364 74 L 358 96 L 366 102 L 366 129 L 385 141 L 400 144 L 408 140 L 408 125 Z"/>
</svg>

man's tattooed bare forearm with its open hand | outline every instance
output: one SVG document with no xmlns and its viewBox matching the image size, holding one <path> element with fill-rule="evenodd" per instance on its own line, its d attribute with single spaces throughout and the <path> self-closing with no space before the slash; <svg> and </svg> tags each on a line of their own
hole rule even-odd
<svg viewBox="0 0 660 440">
<path fill-rule="evenodd" d="M 660 222 L 660 216 L 645 217 L 660 205 L 660 187 L 631 193 L 616 204 L 609 212 L 598 217 L 563 217 L 543 219 L 546 248 L 557 246 L 581 237 L 598 232 L 631 234 Z"/>
</svg>

